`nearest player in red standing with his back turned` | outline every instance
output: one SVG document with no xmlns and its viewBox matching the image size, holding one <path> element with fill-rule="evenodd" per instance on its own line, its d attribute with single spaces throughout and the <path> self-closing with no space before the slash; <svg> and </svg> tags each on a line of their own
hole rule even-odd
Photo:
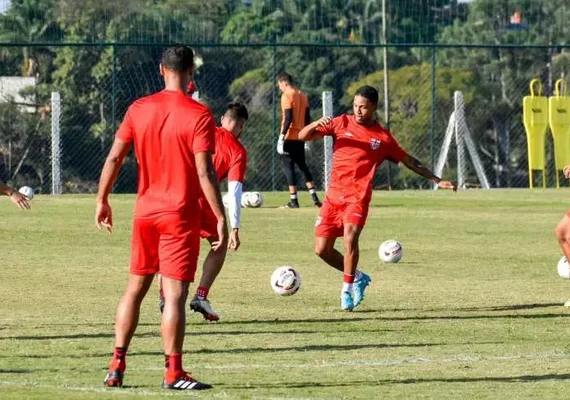
<svg viewBox="0 0 570 400">
<path fill-rule="evenodd" d="M 140 306 L 154 275 L 164 289 L 161 320 L 165 371 L 162 387 L 209 389 L 182 368 L 185 304 L 194 280 L 200 248 L 199 209 L 203 192 L 216 218 L 218 241 L 227 246 L 227 226 L 212 163 L 215 121 L 210 110 L 186 95 L 194 70 L 192 49 L 173 46 L 162 54 L 165 89 L 129 107 L 109 152 L 99 183 L 95 222 L 111 232 L 109 193 L 121 163 L 134 146 L 138 161 L 138 196 L 134 211 L 129 281 L 117 308 L 115 350 L 105 386 L 122 386 L 127 349 L 138 324 Z"/>
</svg>

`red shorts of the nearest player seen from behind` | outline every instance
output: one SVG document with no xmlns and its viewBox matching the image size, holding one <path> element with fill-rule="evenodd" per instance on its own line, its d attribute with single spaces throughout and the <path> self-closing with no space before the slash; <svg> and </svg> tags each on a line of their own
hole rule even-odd
<svg viewBox="0 0 570 400">
<path fill-rule="evenodd" d="M 135 219 L 131 242 L 131 273 L 194 282 L 200 253 L 199 219 L 179 214 Z"/>
</svg>

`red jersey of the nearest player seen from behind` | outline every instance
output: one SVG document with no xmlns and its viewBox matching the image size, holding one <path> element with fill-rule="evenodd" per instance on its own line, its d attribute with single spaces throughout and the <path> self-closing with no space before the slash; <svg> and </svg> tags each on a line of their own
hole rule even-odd
<svg viewBox="0 0 570 400">
<path fill-rule="evenodd" d="M 135 218 L 196 213 L 201 189 L 194 155 L 214 151 L 215 129 L 210 110 L 182 92 L 163 90 L 131 104 L 117 138 L 135 147 Z"/>
</svg>

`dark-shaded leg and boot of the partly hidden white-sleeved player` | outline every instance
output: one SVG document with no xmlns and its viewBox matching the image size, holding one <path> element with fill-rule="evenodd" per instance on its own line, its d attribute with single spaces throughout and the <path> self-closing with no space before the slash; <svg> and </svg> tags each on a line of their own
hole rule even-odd
<svg viewBox="0 0 570 400">
<path fill-rule="evenodd" d="M 211 235 L 207 240 L 212 244 L 217 240 L 217 237 Z M 190 309 L 201 313 L 207 321 L 218 321 L 220 319 L 218 313 L 216 313 L 208 300 L 208 293 L 224 266 L 227 251 L 228 249 L 226 247 L 220 247 L 216 251 L 210 249 L 206 259 L 204 260 L 200 284 L 196 290 L 194 298 L 192 298 L 192 301 L 190 302 Z"/>
</svg>

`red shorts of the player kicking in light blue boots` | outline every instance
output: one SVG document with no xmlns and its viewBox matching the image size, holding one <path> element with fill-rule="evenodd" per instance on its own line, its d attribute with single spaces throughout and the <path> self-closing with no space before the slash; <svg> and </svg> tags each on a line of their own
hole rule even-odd
<svg viewBox="0 0 570 400">
<path fill-rule="evenodd" d="M 325 197 L 321 214 L 315 224 L 316 237 L 342 237 L 344 224 L 364 226 L 368 217 L 369 201 L 333 203 Z"/>
</svg>

